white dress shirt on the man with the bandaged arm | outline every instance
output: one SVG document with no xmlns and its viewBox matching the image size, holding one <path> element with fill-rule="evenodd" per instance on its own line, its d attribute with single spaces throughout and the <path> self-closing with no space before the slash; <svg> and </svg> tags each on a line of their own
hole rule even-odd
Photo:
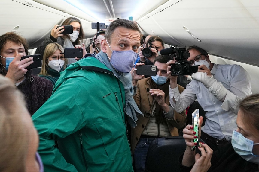
<svg viewBox="0 0 259 172">
<path fill-rule="evenodd" d="M 239 110 L 239 101 L 252 94 L 250 76 L 239 65 L 214 64 L 211 73 L 218 82 L 227 89 L 227 95 L 223 102 L 219 101 L 209 90 L 197 80 L 192 80 L 186 89 L 180 94 L 178 87 L 172 89 L 169 86 L 170 104 L 177 111 L 182 112 L 194 100 L 208 111 L 206 122 L 202 127 L 203 132 L 222 140 L 232 138 L 233 130 L 237 129 L 236 118 Z M 173 101 L 175 98 L 176 103 Z"/>
</svg>

